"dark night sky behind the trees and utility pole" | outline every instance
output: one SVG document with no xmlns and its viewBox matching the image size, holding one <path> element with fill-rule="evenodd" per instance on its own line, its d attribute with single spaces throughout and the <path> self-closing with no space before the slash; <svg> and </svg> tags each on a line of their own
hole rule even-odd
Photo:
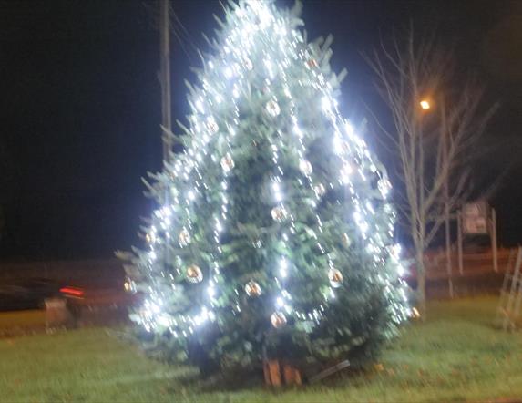
<svg viewBox="0 0 522 403">
<path fill-rule="evenodd" d="M 173 117 L 183 119 L 194 47 L 206 49 L 200 33 L 212 35 L 221 11 L 210 0 L 173 8 L 189 34 L 172 38 Z M 140 177 L 161 159 L 155 15 L 153 1 L 0 1 L 0 257 L 106 257 L 138 243 L 139 217 L 151 208 Z M 348 117 L 361 117 L 363 101 L 383 113 L 361 57 L 380 36 L 411 19 L 455 47 L 463 71 L 478 71 L 487 100 L 501 103 L 477 179 L 510 167 L 492 202 L 501 242 L 521 241 L 522 5 L 315 0 L 304 1 L 303 18 L 310 37 L 335 37 L 333 67 L 349 71 Z"/>
</svg>

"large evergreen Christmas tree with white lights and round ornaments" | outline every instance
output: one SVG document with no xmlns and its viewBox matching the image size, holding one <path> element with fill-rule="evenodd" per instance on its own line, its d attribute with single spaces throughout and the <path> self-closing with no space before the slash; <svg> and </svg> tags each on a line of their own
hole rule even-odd
<svg viewBox="0 0 522 403">
<path fill-rule="evenodd" d="M 299 7 L 297 7 L 299 8 Z M 200 367 L 373 359 L 408 314 L 384 169 L 337 108 L 330 42 L 240 1 L 149 185 L 128 287 L 149 347 Z"/>
</svg>

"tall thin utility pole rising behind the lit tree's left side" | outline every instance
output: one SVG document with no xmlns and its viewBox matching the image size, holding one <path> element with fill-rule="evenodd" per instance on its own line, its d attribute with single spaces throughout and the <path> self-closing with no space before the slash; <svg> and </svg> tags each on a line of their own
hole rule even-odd
<svg viewBox="0 0 522 403">
<path fill-rule="evenodd" d="M 172 150 L 172 117 L 170 107 L 170 16 L 169 0 L 159 0 L 159 83 L 161 84 L 161 129 L 163 162 L 169 162 Z"/>
</svg>

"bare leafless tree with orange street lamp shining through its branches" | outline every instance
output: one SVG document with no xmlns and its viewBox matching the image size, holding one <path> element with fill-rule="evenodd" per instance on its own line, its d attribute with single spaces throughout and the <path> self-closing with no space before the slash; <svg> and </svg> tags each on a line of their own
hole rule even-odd
<svg viewBox="0 0 522 403">
<path fill-rule="evenodd" d="M 425 250 L 469 196 L 471 160 L 496 106 L 484 109 L 484 88 L 476 79 L 460 78 L 451 52 L 433 38 L 415 43 L 413 30 L 404 45 L 397 39 L 382 43 L 367 61 L 391 111 L 392 129 L 377 123 L 398 156 L 400 207 L 415 249 L 418 304 L 425 315 Z"/>
</svg>

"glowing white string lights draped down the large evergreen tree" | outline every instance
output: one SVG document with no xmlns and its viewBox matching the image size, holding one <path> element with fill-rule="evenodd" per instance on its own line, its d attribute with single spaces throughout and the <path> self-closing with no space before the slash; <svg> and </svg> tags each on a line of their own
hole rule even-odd
<svg viewBox="0 0 522 403">
<path fill-rule="evenodd" d="M 198 215 L 200 201 L 207 200 L 203 195 L 209 194 L 210 189 L 219 189 L 218 202 L 211 204 L 215 206 L 213 212 L 213 226 L 211 226 L 211 236 L 213 243 L 211 245 L 210 263 L 203 267 L 201 271 L 205 275 L 200 279 L 200 275 L 196 275 L 195 279 L 201 281 L 200 284 L 190 286 L 205 286 L 207 290 L 208 300 L 202 301 L 200 304 L 192 306 L 187 313 L 183 315 L 166 315 L 163 312 L 163 300 L 165 294 L 159 292 L 161 287 L 151 281 L 152 286 L 145 301 L 140 314 L 136 319 L 144 325 L 148 331 L 153 330 L 156 326 L 169 327 L 169 331 L 175 337 L 187 337 L 197 330 L 201 325 L 208 321 L 215 320 L 217 304 L 217 296 L 220 294 L 220 286 L 223 286 L 220 276 L 220 262 L 223 255 L 223 247 L 221 245 L 221 237 L 223 233 L 227 233 L 227 222 L 229 217 L 229 189 L 230 177 L 234 175 L 237 159 L 236 147 L 233 141 L 241 141 L 238 133 L 244 134 L 245 129 L 241 125 L 240 108 L 242 98 L 251 90 L 250 78 L 254 75 L 261 76 L 264 81 L 261 92 L 265 98 L 261 104 L 261 110 L 264 113 L 264 119 L 270 119 L 271 124 L 276 124 L 282 116 L 290 117 L 292 122 L 289 132 L 283 132 L 281 129 L 276 133 L 276 137 L 270 138 L 271 143 L 271 171 L 267 175 L 271 178 L 271 200 L 266 201 L 270 205 L 271 217 L 276 222 L 277 231 L 281 234 L 282 250 L 291 252 L 294 244 L 296 244 L 296 222 L 295 215 L 299 212 L 292 211 L 295 203 L 292 202 L 292 189 L 297 183 L 298 188 L 302 191 L 310 191 L 314 195 L 314 200 L 307 204 L 312 216 L 315 217 L 313 229 L 309 235 L 314 239 L 317 245 L 318 255 L 324 255 L 328 266 L 318 268 L 322 270 L 324 284 L 330 284 L 324 294 L 325 300 L 334 300 L 336 292 L 342 293 L 342 284 L 347 282 L 341 270 L 335 267 L 342 267 L 341 264 L 334 266 L 335 251 L 330 251 L 332 246 L 327 242 L 329 231 L 324 229 L 322 217 L 318 210 L 318 206 L 324 195 L 326 187 L 321 183 L 325 183 L 330 189 L 334 190 L 338 187 L 344 187 L 349 194 L 349 202 L 352 203 L 353 214 L 352 220 L 359 234 L 346 233 L 340 234 L 340 240 L 343 241 L 345 248 L 352 247 L 354 238 L 359 236 L 359 242 L 363 244 L 363 250 L 368 253 L 375 264 L 375 267 L 385 269 L 389 262 L 394 264 L 396 274 L 401 276 L 404 274 L 404 267 L 400 261 L 400 248 L 384 248 L 385 243 L 389 242 L 383 239 L 384 236 L 393 237 L 393 228 L 395 214 L 389 203 L 384 203 L 384 207 L 379 204 L 373 204 L 366 200 L 367 192 L 361 190 L 358 194 L 357 181 L 363 181 L 363 189 L 369 189 L 371 186 L 370 178 L 378 177 L 377 189 L 383 200 L 389 196 L 392 189 L 390 181 L 385 176 L 384 170 L 380 169 L 378 164 L 373 160 L 372 154 L 368 150 L 365 141 L 358 135 L 357 129 L 353 124 L 341 117 L 338 110 L 337 99 L 334 96 L 334 88 L 330 84 L 330 80 L 322 74 L 320 66 L 314 57 L 312 57 L 310 48 L 304 43 L 302 33 L 293 25 L 292 21 L 287 17 L 280 15 L 273 5 L 262 1 L 245 1 L 241 2 L 233 11 L 230 11 L 228 18 L 228 27 L 220 34 L 225 44 L 221 51 L 206 62 L 205 75 L 201 80 L 201 88 L 194 88 L 191 91 L 189 104 L 192 114 L 189 117 L 190 129 L 189 135 L 191 141 L 183 155 L 180 155 L 174 165 L 169 165 L 168 172 L 165 174 L 169 193 L 172 195 L 171 204 L 162 206 L 153 214 L 153 223 L 149 225 L 146 231 L 146 241 L 148 243 L 148 252 L 143 257 L 138 256 L 138 263 L 145 266 L 149 272 L 149 279 L 153 279 L 155 274 L 159 272 L 159 266 L 163 264 L 165 259 L 169 258 L 169 253 L 165 252 L 171 246 L 176 249 L 178 246 L 190 249 L 197 247 L 196 243 L 207 242 L 205 237 L 197 239 L 196 232 L 200 232 L 200 227 L 195 226 L 193 220 Z M 270 49 L 265 51 L 263 49 Z M 273 54 L 277 53 L 277 56 Z M 252 60 L 261 60 L 261 63 Z M 290 69 L 298 61 L 302 62 L 302 68 Z M 293 76 L 292 76 L 293 75 Z M 291 77 L 292 76 L 292 77 Z M 317 173 L 312 162 L 307 160 L 307 151 L 309 149 L 308 140 L 313 137 L 306 121 L 300 120 L 302 117 L 298 115 L 300 109 L 297 108 L 296 99 L 293 94 L 298 89 L 308 87 L 316 94 L 319 107 L 322 111 L 325 121 L 332 128 L 332 136 L 330 144 L 332 145 L 333 154 L 337 158 L 338 166 L 341 167 L 338 172 L 331 172 L 330 181 L 324 181 L 324 178 Z M 281 92 L 277 91 L 282 88 Z M 275 96 L 277 92 L 278 96 Z M 231 94 L 227 97 L 226 94 Z M 227 111 L 220 113 L 226 100 Z M 260 110 L 260 114 L 261 114 Z M 215 115 L 212 115 L 215 113 Z M 246 135 L 246 134 L 244 134 Z M 219 144 L 219 147 L 218 147 Z M 297 147 L 292 148 L 290 144 Z M 289 149 L 291 149 L 289 151 Z M 281 165 L 281 153 L 293 153 L 296 161 L 296 167 L 302 172 L 301 178 L 290 178 L 285 175 L 285 169 Z M 210 170 L 220 172 L 211 180 L 208 180 Z M 337 175 L 337 176 L 336 176 Z M 285 194 L 286 191 L 287 194 Z M 186 195 L 186 199 L 182 196 Z M 183 207 L 179 203 L 179 198 L 183 202 Z M 198 202 L 196 202 L 198 201 Z M 338 201 L 339 202 L 339 201 Z M 344 201 L 346 202 L 346 201 Z M 202 202 L 201 202 L 202 203 Z M 375 217 L 381 217 L 384 213 L 387 222 L 381 224 Z M 212 222 L 210 222 L 211 224 Z M 236 222 L 232 222 L 232 227 L 236 226 Z M 198 224 L 200 225 L 200 224 Z M 161 229 L 159 233 L 158 229 Z M 170 236 L 172 234 L 172 236 Z M 346 241 L 346 239 L 348 241 Z M 263 241 L 264 242 L 264 241 Z M 260 240 L 254 241 L 256 249 L 263 247 Z M 265 243 L 266 247 L 270 244 Z M 273 274 L 274 284 L 265 287 L 263 284 L 263 293 L 272 293 L 274 297 L 274 313 L 271 315 L 272 325 L 281 327 L 287 323 L 287 317 L 293 315 L 299 320 L 311 319 L 315 322 L 322 320 L 322 312 L 328 309 L 328 305 L 318 305 L 310 312 L 301 312 L 297 308 L 292 307 L 292 294 L 285 288 L 289 282 L 289 276 L 294 275 L 299 267 L 292 263 L 287 255 L 281 253 L 280 250 L 273 250 L 276 262 Z M 290 254 L 289 254 L 290 256 Z M 180 269 L 187 267 L 191 262 L 185 262 L 186 258 L 176 257 L 175 273 L 179 274 Z M 292 270 L 291 270 L 292 268 Z M 161 268 L 161 270 L 163 270 Z M 267 270 L 269 270 L 267 268 Z M 161 272 L 163 274 L 163 272 Z M 209 273 L 209 275 L 207 275 Z M 177 292 L 175 284 L 178 277 L 163 277 L 169 282 L 169 289 L 173 293 Z M 394 278 L 389 276 L 381 276 L 381 282 L 385 286 L 385 290 L 390 295 L 394 294 Z M 198 282 L 199 283 L 199 282 Z M 255 284 L 255 283 L 254 283 Z M 259 284 L 257 284 L 259 287 Z M 261 290 L 261 289 L 260 289 Z M 405 299 L 404 286 L 399 291 L 402 298 Z M 234 312 L 241 312 L 240 295 L 228 300 L 226 303 Z M 404 312 L 407 310 L 405 305 L 397 305 L 395 315 L 398 319 L 404 318 Z M 223 309 L 223 305 L 220 306 Z M 177 320 L 178 319 L 178 320 Z"/>
</svg>

